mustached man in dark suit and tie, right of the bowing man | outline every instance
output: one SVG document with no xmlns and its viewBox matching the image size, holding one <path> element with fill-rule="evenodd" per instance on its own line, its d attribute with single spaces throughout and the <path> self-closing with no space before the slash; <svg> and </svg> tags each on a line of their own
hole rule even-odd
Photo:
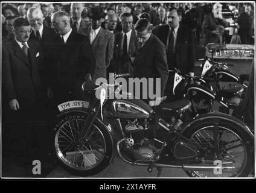
<svg viewBox="0 0 256 193">
<path fill-rule="evenodd" d="M 191 28 L 179 25 L 181 11 L 170 8 L 167 12 L 168 25 L 162 25 L 153 29 L 153 34 L 164 43 L 167 53 L 168 68 L 178 68 L 183 74 L 194 75 L 194 36 Z M 173 74 L 168 78 L 165 94 L 170 96 L 173 84 Z"/>
</svg>

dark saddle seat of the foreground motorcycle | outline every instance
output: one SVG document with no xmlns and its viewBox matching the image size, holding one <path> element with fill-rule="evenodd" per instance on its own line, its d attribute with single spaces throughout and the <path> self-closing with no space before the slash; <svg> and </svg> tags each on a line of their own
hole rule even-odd
<svg viewBox="0 0 256 193">
<path fill-rule="evenodd" d="M 187 99 L 174 101 L 171 103 L 160 104 L 156 106 L 156 113 L 158 115 L 176 116 L 181 115 L 182 112 L 187 110 L 191 106 L 191 103 Z"/>
</svg>

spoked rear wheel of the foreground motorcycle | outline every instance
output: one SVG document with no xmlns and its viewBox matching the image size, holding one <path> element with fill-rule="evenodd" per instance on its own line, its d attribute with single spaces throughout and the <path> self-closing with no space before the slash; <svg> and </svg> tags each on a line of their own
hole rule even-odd
<svg viewBox="0 0 256 193">
<path fill-rule="evenodd" d="M 247 177 L 251 171 L 252 151 L 244 130 L 220 120 L 205 122 L 184 133 L 187 138 L 205 148 L 202 163 L 216 168 L 207 171 L 187 171 L 191 177 Z M 252 145 L 252 144 L 251 144 Z M 224 167 L 224 168 L 222 168 Z"/>
</svg>

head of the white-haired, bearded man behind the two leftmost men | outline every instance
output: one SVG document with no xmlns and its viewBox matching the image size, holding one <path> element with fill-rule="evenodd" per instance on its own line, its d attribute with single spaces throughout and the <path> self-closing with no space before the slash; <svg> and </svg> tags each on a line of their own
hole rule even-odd
<svg viewBox="0 0 256 193">
<path fill-rule="evenodd" d="M 31 7 L 27 11 L 27 18 L 34 31 L 43 27 L 43 13 L 40 8 Z"/>
</svg>

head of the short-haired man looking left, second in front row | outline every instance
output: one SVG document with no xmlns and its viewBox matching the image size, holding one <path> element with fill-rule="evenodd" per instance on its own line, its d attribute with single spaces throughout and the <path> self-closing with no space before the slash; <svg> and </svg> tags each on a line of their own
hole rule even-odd
<svg viewBox="0 0 256 193">
<path fill-rule="evenodd" d="M 51 28 L 60 35 L 65 35 L 71 30 L 70 16 L 65 11 L 57 11 L 51 16 Z"/>
</svg>

